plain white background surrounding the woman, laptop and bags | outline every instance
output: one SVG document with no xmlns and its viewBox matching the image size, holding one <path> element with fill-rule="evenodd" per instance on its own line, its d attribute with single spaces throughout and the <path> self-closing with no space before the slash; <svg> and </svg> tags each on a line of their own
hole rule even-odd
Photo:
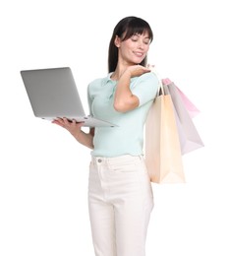
<svg viewBox="0 0 228 256">
<path fill-rule="evenodd" d="M 93 255 L 90 151 L 33 116 L 20 70 L 70 66 L 87 109 L 86 86 L 106 75 L 112 30 L 130 15 L 154 32 L 149 63 L 199 107 L 205 144 L 183 159 L 186 184 L 153 184 L 146 255 L 228 255 L 226 10 L 225 0 L 0 2 L 1 256 Z"/>
</svg>

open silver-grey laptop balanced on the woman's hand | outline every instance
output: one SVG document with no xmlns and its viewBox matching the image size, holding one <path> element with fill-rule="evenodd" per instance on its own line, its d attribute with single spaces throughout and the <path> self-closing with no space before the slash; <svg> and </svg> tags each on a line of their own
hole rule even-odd
<svg viewBox="0 0 228 256">
<path fill-rule="evenodd" d="M 66 117 L 84 122 L 88 127 L 114 127 L 115 124 L 85 115 L 73 73 L 69 67 L 22 70 L 33 114 L 36 117 L 53 120 Z"/>
</svg>

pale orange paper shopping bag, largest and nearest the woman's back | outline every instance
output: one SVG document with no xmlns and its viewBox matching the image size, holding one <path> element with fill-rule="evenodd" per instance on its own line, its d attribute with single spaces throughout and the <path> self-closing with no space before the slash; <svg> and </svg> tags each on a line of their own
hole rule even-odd
<svg viewBox="0 0 228 256">
<path fill-rule="evenodd" d="M 160 83 L 161 84 L 161 83 Z M 185 175 L 175 111 L 160 85 L 145 121 L 145 164 L 154 183 L 183 183 Z"/>
</svg>

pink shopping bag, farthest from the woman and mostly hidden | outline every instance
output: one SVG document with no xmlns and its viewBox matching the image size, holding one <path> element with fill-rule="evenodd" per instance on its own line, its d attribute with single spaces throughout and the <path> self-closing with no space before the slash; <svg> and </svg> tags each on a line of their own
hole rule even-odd
<svg viewBox="0 0 228 256">
<path fill-rule="evenodd" d="M 188 110 L 188 112 L 192 118 L 199 114 L 199 112 L 200 112 L 199 108 L 170 79 L 165 78 L 165 79 L 162 79 L 161 81 L 162 81 L 163 86 L 173 85 L 176 87 L 179 95 L 181 96 L 181 98 L 183 100 L 183 103 L 184 103 L 186 109 Z"/>
</svg>

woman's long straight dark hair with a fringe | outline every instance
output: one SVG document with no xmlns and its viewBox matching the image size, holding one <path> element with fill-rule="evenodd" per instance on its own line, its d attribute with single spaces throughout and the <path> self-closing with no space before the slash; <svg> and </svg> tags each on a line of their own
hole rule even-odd
<svg viewBox="0 0 228 256">
<path fill-rule="evenodd" d="M 114 28 L 108 49 L 108 72 L 114 72 L 118 62 L 118 48 L 115 45 L 115 38 L 118 35 L 123 41 L 130 38 L 133 34 L 148 32 L 150 42 L 153 39 L 153 33 L 148 23 L 141 18 L 130 16 L 122 19 Z M 146 57 L 140 63 L 146 65 Z"/>
</svg>

